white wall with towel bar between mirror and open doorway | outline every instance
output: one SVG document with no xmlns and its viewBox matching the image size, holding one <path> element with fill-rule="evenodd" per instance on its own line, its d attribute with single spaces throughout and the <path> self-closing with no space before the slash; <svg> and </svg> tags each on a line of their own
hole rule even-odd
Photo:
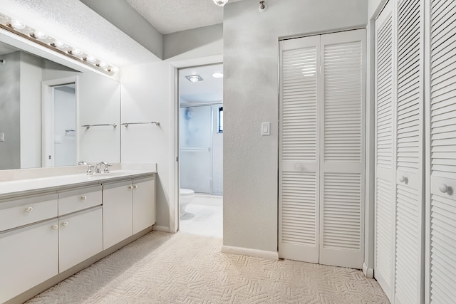
<svg viewBox="0 0 456 304">
<path fill-rule="evenodd" d="M 186 31 L 181 43 L 197 41 L 198 29 Z M 172 58 L 158 63 L 145 63 L 122 68 L 122 122 L 160 121 L 156 125 L 130 125 L 122 127 L 122 162 L 157 163 L 157 224 L 155 229 L 175 231 L 176 223 L 170 214 L 177 216 L 177 172 L 175 167 L 175 141 L 177 125 L 177 68 L 185 68 L 222 61 L 222 32 Z M 172 52 L 175 53 L 175 52 Z M 158 226 L 158 227 L 157 227 Z"/>
</svg>

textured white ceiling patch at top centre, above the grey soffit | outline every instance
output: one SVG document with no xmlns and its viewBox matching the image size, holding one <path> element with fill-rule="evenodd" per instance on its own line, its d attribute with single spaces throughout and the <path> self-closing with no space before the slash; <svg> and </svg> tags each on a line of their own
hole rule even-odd
<svg viewBox="0 0 456 304">
<path fill-rule="evenodd" d="M 174 33 L 223 22 L 223 8 L 212 0 L 125 0 L 160 33 Z M 241 0 L 229 0 L 237 2 Z"/>
</svg>

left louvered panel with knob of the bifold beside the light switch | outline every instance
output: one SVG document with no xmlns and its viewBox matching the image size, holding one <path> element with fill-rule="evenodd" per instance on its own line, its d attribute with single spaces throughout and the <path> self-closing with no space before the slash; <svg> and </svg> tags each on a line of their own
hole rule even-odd
<svg viewBox="0 0 456 304">
<path fill-rule="evenodd" d="M 318 263 L 319 36 L 281 41 L 279 256 Z"/>
</svg>

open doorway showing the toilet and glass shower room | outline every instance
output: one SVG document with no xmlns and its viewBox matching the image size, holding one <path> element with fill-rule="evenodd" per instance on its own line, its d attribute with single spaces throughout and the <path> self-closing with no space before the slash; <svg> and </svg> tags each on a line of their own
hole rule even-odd
<svg viewBox="0 0 456 304">
<path fill-rule="evenodd" d="M 222 237 L 223 66 L 181 68 L 179 229 Z"/>
</svg>

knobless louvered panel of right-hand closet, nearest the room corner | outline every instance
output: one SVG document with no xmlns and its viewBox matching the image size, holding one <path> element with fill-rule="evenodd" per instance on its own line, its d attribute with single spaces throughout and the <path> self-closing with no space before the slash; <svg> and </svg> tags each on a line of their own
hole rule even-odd
<svg viewBox="0 0 456 304">
<path fill-rule="evenodd" d="M 375 21 L 375 271 L 392 301 L 395 256 L 393 4 Z"/>
</svg>

